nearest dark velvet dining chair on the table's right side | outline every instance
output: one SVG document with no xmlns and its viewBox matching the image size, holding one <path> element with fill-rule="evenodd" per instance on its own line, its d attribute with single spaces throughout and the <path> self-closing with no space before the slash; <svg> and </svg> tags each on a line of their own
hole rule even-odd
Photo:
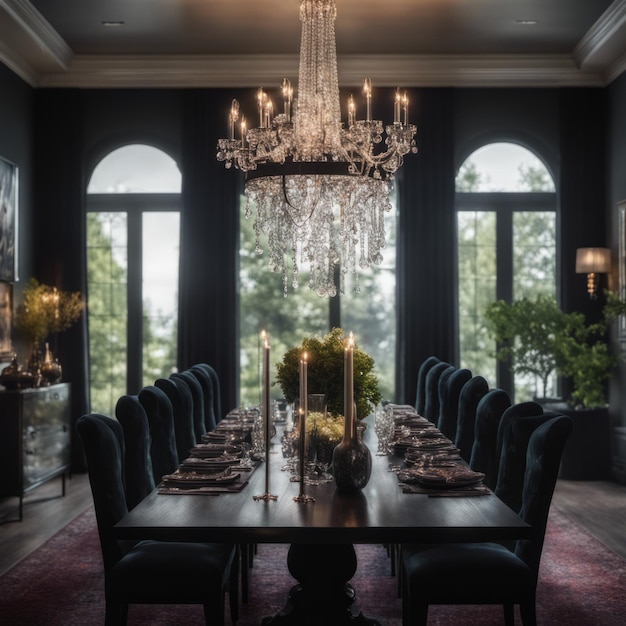
<svg viewBox="0 0 626 626">
<path fill-rule="evenodd" d="M 571 418 L 559 415 L 530 436 L 519 515 L 532 527 L 532 535 L 518 540 L 514 550 L 495 542 L 404 546 L 404 626 L 425 626 L 431 604 L 501 604 L 507 626 L 513 624 L 513 609 L 519 605 L 524 626 L 536 625 L 539 562 L 563 446 L 571 430 Z"/>
</svg>

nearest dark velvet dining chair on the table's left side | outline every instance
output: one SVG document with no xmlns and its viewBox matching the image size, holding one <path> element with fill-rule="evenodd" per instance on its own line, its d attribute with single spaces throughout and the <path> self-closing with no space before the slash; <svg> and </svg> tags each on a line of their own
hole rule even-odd
<svg viewBox="0 0 626 626">
<path fill-rule="evenodd" d="M 105 626 L 126 624 L 129 604 L 202 604 L 206 624 L 223 625 L 233 546 L 116 541 L 113 528 L 128 512 L 122 427 L 92 413 L 80 417 L 76 429 L 85 450 L 104 562 Z M 231 597 L 231 610 L 232 602 Z"/>
</svg>

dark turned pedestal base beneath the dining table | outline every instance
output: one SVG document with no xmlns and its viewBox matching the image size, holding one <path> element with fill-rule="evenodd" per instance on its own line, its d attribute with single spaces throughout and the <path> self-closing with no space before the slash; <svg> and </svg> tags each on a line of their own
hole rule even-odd
<svg viewBox="0 0 626 626">
<path fill-rule="evenodd" d="M 348 583 L 356 572 L 352 544 L 292 544 L 287 564 L 299 584 L 289 591 L 282 611 L 263 618 L 263 626 L 380 626 L 350 610 L 356 596 Z"/>
</svg>

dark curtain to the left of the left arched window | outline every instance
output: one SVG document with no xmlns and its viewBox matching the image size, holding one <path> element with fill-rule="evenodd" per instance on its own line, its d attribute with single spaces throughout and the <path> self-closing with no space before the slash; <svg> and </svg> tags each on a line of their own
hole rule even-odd
<svg viewBox="0 0 626 626">
<path fill-rule="evenodd" d="M 35 91 L 36 223 L 33 267 L 41 283 L 86 296 L 82 98 L 74 89 Z M 56 356 L 71 383 L 72 424 L 89 410 L 87 316 L 58 337 Z M 72 469 L 84 471 L 80 440 L 72 428 Z"/>
</svg>

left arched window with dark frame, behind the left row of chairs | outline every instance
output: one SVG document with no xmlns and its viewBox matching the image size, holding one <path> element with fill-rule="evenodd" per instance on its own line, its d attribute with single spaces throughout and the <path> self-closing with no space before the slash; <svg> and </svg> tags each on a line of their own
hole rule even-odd
<svg viewBox="0 0 626 626">
<path fill-rule="evenodd" d="M 181 174 L 148 145 L 110 152 L 87 187 L 91 410 L 114 414 L 176 364 Z"/>
</svg>

